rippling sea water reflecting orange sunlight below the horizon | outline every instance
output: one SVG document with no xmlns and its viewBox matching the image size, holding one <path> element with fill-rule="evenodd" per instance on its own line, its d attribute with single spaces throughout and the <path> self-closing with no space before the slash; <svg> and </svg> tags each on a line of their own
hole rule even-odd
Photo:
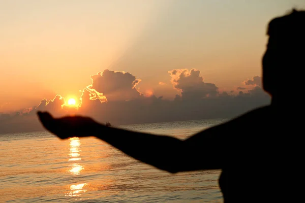
<svg viewBox="0 0 305 203">
<path fill-rule="evenodd" d="M 186 139 L 226 120 L 118 127 Z M 173 175 L 96 138 L 0 134 L 0 202 L 223 202 L 219 175 L 219 170 Z"/>
</svg>

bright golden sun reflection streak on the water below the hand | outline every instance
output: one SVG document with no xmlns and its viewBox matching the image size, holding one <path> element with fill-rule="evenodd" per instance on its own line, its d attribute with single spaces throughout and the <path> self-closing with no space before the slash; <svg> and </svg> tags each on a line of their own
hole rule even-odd
<svg viewBox="0 0 305 203">
<path fill-rule="evenodd" d="M 70 153 L 69 153 L 69 160 L 68 161 L 80 161 L 80 141 L 79 138 L 70 138 Z M 72 175 L 77 176 L 80 174 L 80 172 L 84 169 L 83 165 L 80 163 L 74 162 L 69 165 L 69 170 Z M 82 192 L 86 192 L 87 190 L 83 189 L 83 187 L 87 183 L 81 183 L 81 184 L 73 184 L 70 186 L 70 191 L 66 192 L 66 196 L 72 196 L 72 197 L 79 197 L 81 196 Z"/>
</svg>

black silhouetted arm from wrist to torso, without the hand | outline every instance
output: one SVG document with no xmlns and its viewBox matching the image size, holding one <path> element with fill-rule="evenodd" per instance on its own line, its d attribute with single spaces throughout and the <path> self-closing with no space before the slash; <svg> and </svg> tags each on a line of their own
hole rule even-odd
<svg viewBox="0 0 305 203">
<path fill-rule="evenodd" d="M 219 169 L 219 141 L 212 130 L 187 140 L 100 125 L 95 137 L 144 163 L 170 173 Z"/>
</svg>

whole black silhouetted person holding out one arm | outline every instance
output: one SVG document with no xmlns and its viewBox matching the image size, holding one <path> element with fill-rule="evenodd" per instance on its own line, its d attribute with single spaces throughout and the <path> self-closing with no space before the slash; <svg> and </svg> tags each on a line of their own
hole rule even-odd
<svg viewBox="0 0 305 203">
<path fill-rule="evenodd" d="M 305 11 L 275 18 L 268 26 L 263 87 L 269 106 L 250 111 L 182 141 L 106 127 L 88 117 L 53 118 L 43 125 L 61 139 L 95 136 L 142 162 L 170 173 L 221 169 L 225 203 L 293 202 L 302 197 L 301 84 L 305 67 Z"/>
</svg>

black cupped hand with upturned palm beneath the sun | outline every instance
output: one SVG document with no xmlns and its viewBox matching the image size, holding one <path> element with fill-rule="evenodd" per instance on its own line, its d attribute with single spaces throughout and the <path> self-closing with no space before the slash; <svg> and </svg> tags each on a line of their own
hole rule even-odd
<svg viewBox="0 0 305 203">
<path fill-rule="evenodd" d="M 95 130 L 100 125 L 89 117 L 53 118 L 48 112 L 38 112 L 37 114 L 43 126 L 60 139 L 94 136 Z"/>
</svg>

